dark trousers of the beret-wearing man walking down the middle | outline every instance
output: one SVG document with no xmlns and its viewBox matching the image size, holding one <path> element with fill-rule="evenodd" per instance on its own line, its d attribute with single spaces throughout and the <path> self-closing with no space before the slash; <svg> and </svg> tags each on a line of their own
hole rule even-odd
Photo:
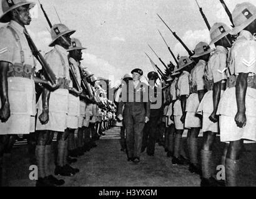
<svg viewBox="0 0 256 199">
<path fill-rule="evenodd" d="M 124 108 L 126 126 L 126 147 L 128 158 L 140 157 L 142 134 L 145 126 L 145 108 L 143 103 L 127 103 Z"/>
</svg>

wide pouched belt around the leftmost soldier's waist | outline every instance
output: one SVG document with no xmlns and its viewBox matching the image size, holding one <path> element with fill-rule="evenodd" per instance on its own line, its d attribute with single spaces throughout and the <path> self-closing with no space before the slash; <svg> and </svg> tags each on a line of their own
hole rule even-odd
<svg viewBox="0 0 256 199">
<path fill-rule="evenodd" d="M 22 77 L 31 79 L 34 75 L 34 68 L 28 64 L 14 63 L 14 65 L 9 65 L 9 70 L 7 72 L 7 77 Z"/>
</svg>

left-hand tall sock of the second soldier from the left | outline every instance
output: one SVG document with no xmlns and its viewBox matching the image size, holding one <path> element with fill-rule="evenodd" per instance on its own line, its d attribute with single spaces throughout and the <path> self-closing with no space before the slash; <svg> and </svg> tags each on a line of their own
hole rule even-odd
<svg viewBox="0 0 256 199">
<path fill-rule="evenodd" d="M 46 177 L 45 169 L 44 169 L 45 151 L 46 151 L 46 146 L 41 146 L 41 145 L 36 146 L 36 162 L 37 162 L 39 178 Z"/>
</svg>

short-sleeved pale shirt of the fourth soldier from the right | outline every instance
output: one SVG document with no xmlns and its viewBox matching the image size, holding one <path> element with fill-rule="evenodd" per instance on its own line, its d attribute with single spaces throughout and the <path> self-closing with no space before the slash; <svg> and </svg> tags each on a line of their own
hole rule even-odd
<svg viewBox="0 0 256 199">
<path fill-rule="evenodd" d="M 177 97 L 182 95 L 189 96 L 190 86 L 189 86 L 189 72 L 184 71 L 179 77 L 177 82 Z"/>
</svg>

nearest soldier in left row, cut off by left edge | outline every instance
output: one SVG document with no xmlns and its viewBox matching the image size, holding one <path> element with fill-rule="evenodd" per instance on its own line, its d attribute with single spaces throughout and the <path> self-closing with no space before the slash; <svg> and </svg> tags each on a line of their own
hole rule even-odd
<svg viewBox="0 0 256 199">
<path fill-rule="evenodd" d="M 2 155 L 11 134 L 35 131 L 34 83 L 41 83 L 49 89 L 57 88 L 34 76 L 36 63 L 27 42 L 29 35 L 25 25 L 31 23 L 29 10 L 35 4 L 25 0 L 2 0 L 1 4 L 0 22 L 9 24 L 0 29 L 0 170 Z M 51 185 L 47 180 L 44 182 Z"/>
</svg>

